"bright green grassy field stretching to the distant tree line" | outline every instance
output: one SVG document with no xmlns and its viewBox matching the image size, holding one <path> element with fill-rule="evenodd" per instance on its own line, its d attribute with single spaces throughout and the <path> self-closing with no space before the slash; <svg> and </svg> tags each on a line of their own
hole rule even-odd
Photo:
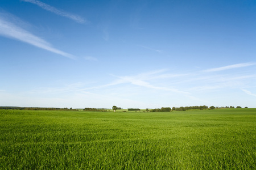
<svg viewBox="0 0 256 170">
<path fill-rule="evenodd" d="M 0 169 L 256 169 L 256 109 L 0 110 Z"/>
</svg>

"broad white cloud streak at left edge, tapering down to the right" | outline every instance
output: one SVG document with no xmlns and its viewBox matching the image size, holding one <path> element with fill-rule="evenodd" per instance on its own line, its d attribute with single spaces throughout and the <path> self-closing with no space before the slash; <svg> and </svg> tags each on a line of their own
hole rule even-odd
<svg viewBox="0 0 256 170">
<path fill-rule="evenodd" d="M 3 17 L 4 16 L 4 17 Z M 6 17 L 7 16 L 7 17 Z M 49 52 L 60 54 L 61 56 L 75 59 L 76 57 L 72 54 L 65 53 L 59 49 L 53 48 L 49 42 L 43 40 L 42 38 L 33 35 L 31 32 L 26 31 L 25 29 L 19 27 L 13 22 L 10 22 L 8 18 L 12 18 L 11 20 L 16 20 L 15 17 L 11 15 L 2 15 L 0 13 L 0 35 L 9 37 L 11 39 L 19 40 L 22 42 L 26 42 L 28 44 L 37 46 L 39 48 L 48 50 Z M 14 19 L 15 18 L 15 19 Z M 16 23 L 18 23 L 17 21 Z"/>
</svg>

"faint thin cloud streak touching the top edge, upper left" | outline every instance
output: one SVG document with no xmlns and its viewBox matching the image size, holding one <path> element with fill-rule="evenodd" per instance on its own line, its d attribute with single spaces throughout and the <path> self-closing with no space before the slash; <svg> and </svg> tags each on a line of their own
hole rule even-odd
<svg viewBox="0 0 256 170">
<path fill-rule="evenodd" d="M 75 15 L 75 14 L 70 14 L 69 12 L 59 10 L 59 9 L 53 7 L 53 6 L 50 6 L 50 5 L 47 5 L 46 3 L 41 2 L 41 1 L 37 1 L 37 0 L 21 0 L 21 1 L 34 3 L 35 5 L 38 5 L 39 7 L 42 7 L 44 10 L 53 12 L 54 14 L 64 16 L 64 17 L 69 18 L 69 19 L 72 19 L 77 23 L 86 23 L 86 20 L 81 18 L 81 16 L 78 16 L 78 15 Z"/>
</svg>

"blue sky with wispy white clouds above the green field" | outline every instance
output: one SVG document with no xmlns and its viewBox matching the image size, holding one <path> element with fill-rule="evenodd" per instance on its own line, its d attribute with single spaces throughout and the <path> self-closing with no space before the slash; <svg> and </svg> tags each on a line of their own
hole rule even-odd
<svg viewBox="0 0 256 170">
<path fill-rule="evenodd" d="M 0 0 L 0 105 L 256 108 L 256 1 Z"/>
</svg>

